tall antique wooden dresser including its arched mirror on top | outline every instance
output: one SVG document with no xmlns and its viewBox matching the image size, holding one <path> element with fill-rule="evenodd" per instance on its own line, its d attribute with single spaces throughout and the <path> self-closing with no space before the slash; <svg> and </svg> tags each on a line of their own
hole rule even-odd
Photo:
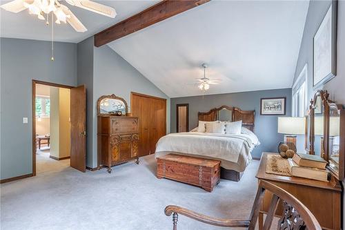
<svg viewBox="0 0 345 230">
<path fill-rule="evenodd" d="M 97 101 L 97 168 L 111 167 L 130 160 L 139 164 L 139 119 L 128 116 L 127 102 L 116 95 L 104 95 Z"/>
</svg>

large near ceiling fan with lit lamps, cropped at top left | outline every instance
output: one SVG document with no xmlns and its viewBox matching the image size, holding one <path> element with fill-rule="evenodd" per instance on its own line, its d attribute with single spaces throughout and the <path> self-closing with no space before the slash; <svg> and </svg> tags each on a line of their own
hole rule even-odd
<svg viewBox="0 0 345 230">
<path fill-rule="evenodd" d="M 31 15 L 37 15 L 41 20 L 47 20 L 49 24 L 49 14 L 51 13 L 53 20 L 56 18 L 55 23 L 60 24 L 61 21 L 68 22 L 72 28 L 77 32 L 86 32 L 86 27 L 79 21 L 79 19 L 68 9 L 67 6 L 60 3 L 61 0 L 13 0 L 8 3 L 4 3 L 0 7 L 4 10 L 18 13 L 28 9 Z M 110 6 L 104 6 L 100 3 L 90 0 L 66 0 L 71 6 L 77 6 L 79 8 L 96 12 L 97 14 L 107 17 L 115 18 L 116 12 L 114 8 Z M 45 17 L 46 16 L 46 17 Z"/>
</svg>

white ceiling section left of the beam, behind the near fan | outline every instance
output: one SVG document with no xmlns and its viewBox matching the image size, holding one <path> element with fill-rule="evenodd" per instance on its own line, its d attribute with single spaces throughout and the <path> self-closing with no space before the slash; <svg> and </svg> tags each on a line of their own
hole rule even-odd
<svg viewBox="0 0 345 230">
<path fill-rule="evenodd" d="M 0 3 L 7 3 L 8 0 L 1 0 Z M 83 41 L 97 32 L 108 28 L 109 26 L 118 23 L 137 12 L 144 10 L 157 1 L 96 1 L 106 6 L 112 6 L 117 12 L 117 17 L 112 19 L 103 15 L 98 15 L 95 12 L 83 10 L 75 6 L 70 6 L 66 1 L 61 1 L 66 5 L 75 16 L 83 23 L 88 29 L 86 32 L 76 32 L 69 24 L 61 23 L 61 25 L 54 25 L 55 41 L 66 41 L 77 43 Z M 28 10 L 23 10 L 17 14 L 0 9 L 0 21 L 1 21 L 1 37 L 12 37 L 19 39 L 34 39 L 50 41 L 51 32 L 50 28 L 46 26 L 45 21 L 41 21 L 29 15 Z"/>
</svg>

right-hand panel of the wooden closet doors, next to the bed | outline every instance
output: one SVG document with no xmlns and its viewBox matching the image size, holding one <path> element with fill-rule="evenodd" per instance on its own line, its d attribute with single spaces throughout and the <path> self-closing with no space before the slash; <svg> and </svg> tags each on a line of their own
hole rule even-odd
<svg viewBox="0 0 345 230">
<path fill-rule="evenodd" d="M 150 113 L 152 117 L 150 128 L 150 153 L 155 153 L 159 138 L 166 135 L 166 100 L 150 99 Z"/>
</svg>

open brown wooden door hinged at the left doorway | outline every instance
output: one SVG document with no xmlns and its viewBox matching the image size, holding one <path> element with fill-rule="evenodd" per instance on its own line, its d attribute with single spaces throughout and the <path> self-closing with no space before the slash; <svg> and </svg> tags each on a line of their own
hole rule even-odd
<svg viewBox="0 0 345 230">
<path fill-rule="evenodd" d="M 70 89 L 70 166 L 86 170 L 86 88 Z M 90 133 L 91 134 L 91 133 Z"/>
</svg>

